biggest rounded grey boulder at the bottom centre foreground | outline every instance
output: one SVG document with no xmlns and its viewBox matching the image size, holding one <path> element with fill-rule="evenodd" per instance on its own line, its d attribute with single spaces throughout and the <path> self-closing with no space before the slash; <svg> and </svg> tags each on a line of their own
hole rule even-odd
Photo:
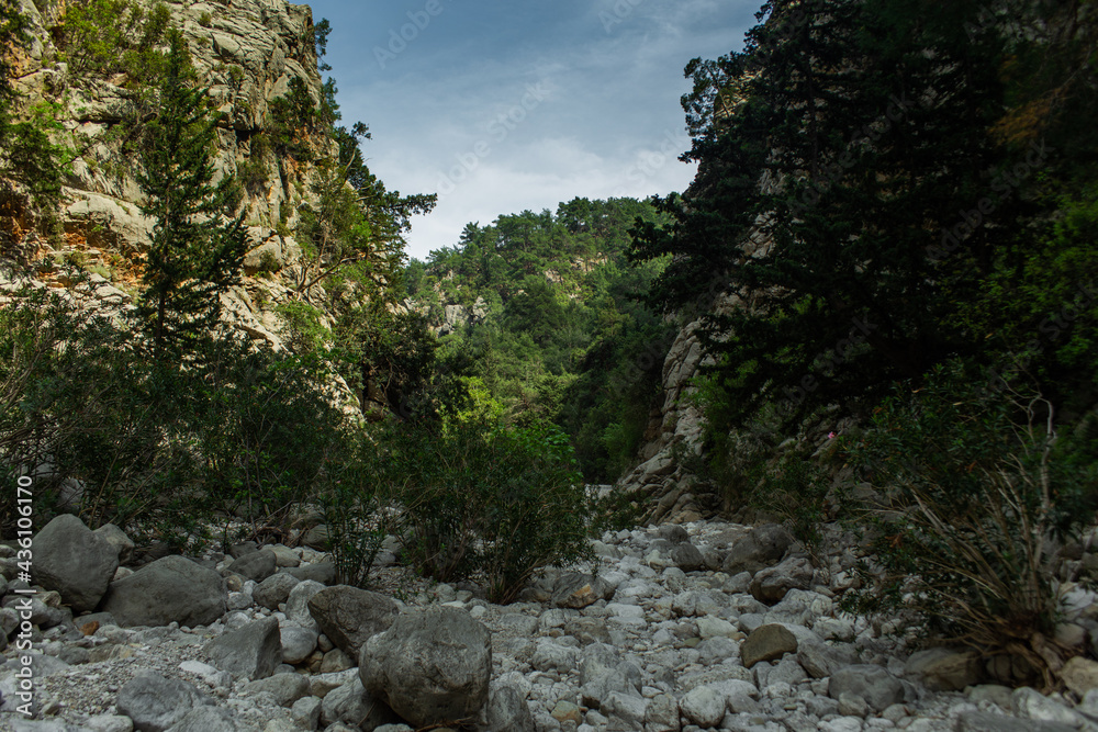
<svg viewBox="0 0 1098 732">
<path fill-rule="evenodd" d="M 359 657 L 366 690 L 417 727 L 473 717 L 488 700 L 492 643 L 464 610 L 400 616 Z"/>
</svg>

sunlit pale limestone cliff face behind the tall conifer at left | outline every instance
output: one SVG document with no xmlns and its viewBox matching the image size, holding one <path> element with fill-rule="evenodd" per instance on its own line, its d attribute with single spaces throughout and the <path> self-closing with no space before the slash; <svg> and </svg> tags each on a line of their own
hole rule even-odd
<svg viewBox="0 0 1098 732">
<path fill-rule="evenodd" d="M 3 212 L 3 243 L 26 259 L 76 263 L 92 272 L 96 286 L 71 285 L 57 271 L 40 269 L 54 288 L 85 292 L 102 290 L 112 303 L 135 294 L 135 255 L 147 246 L 150 222 L 136 203 L 141 191 L 132 168 L 122 159 L 117 135 L 126 105 L 134 99 L 125 74 L 99 76 L 74 74 L 56 45 L 65 5 L 56 0 L 21 0 L 31 21 L 33 43 L 20 58 L 16 86 L 27 106 L 57 103 L 60 134 L 76 150 L 71 173 L 65 181 L 60 225 L 63 240 L 49 241 L 25 218 L 25 212 Z M 136 0 L 145 10 L 153 0 Z M 295 278 L 301 248 L 294 240 L 298 207 L 310 200 L 315 162 L 274 157 L 270 146 L 253 146 L 269 126 L 270 104 L 287 93 L 293 78 L 304 80 L 314 100 L 321 98 L 316 68 L 312 11 L 284 0 L 223 0 L 223 2 L 165 2 L 172 24 L 188 41 L 200 83 L 210 88 L 214 105 L 224 113 L 219 129 L 215 165 L 219 177 L 235 174 L 249 166 L 261 181 L 245 191 L 249 254 L 240 286 L 223 303 L 226 319 L 253 338 L 281 348 L 278 319 L 270 305 L 284 301 Z M 311 150 L 312 159 L 334 156 L 334 143 L 318 133 L 301 131 L 296 140 Z M 259 275 L 259 277 L 257 277 Z"/>
</svg>

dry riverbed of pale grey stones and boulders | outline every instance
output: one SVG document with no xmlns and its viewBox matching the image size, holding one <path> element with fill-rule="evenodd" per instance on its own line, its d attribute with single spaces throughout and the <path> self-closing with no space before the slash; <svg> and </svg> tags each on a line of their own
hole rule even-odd
<svg viewBox="0 0 1098 732">
<path fill-rule="evenodd" d="M 72 517 L 36 537 L 34 579 L 54 589 L 26 611 L 29 720 L 14 711 L 29 585 L 0 548 L 0 729 L 1098 730 L 1098 664 L 1074 660 L 1067 690 L 1044 696 L 982 684 L 963 651 L 912 654 L 888 622 L 838 611 L 850 552 L 814 571 L 776 526 L 606 534 L 597 567 L 552 573 L 509 606 L 412 577 L 390 552 L 374 593 L 328 586 L 333 565 L 309 548 L 136 571 L 132 550 Z M 1073 590 L 1060 640 L 1089 644 L 1093 600 Z"/>
</svg>

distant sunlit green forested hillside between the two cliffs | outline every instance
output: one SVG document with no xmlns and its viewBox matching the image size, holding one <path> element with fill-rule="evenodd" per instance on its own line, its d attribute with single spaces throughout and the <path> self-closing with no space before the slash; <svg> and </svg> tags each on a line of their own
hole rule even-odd
<svg viewBox="0 0 1098 732">
<path fill-rule="evenodd" d="M 413 307 L 466 364 L 478 407 L 560 425 L 591 483 L 631 468 L 672 334 L 641 302 L 663 261 L 626 258 L 638 221 L 657 221 L 649 203 L 575 199 L 469 224 L 406 270 Z"/>
</svg>

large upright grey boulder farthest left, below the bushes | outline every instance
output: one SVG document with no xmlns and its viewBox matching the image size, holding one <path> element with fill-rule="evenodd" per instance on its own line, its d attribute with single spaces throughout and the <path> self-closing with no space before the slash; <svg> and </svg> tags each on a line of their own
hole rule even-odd
<svg viewBox="0 0 1098 732">
<path fill-rule="evenodd" d="M 71 514 L 54 518 L 34 538 L 34 581 L 56 589 L 76 612 L 93 610 L 107 594 L 119 553 Z"/>
</svg>

